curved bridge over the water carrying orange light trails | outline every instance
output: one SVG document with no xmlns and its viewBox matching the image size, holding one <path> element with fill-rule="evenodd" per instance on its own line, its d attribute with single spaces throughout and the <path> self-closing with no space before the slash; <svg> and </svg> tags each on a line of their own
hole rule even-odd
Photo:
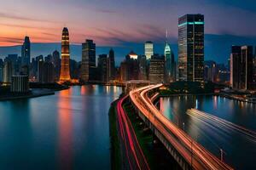
<svg viewBox="0 0 256 170">
<path fill-rule="evenodd" d="M 154 135 L 165 145 L 166 149 L 183 170 L 189 169 L 232 169 L 229 165 L 213 156 L 201 144 L 189 137 L 187 133 L 169 121 L 153 104 L 155 92 L 162 84 L 136 88 L 129 93 L 131 105 L 138 115 L 152 130 Z"/>
</svg>

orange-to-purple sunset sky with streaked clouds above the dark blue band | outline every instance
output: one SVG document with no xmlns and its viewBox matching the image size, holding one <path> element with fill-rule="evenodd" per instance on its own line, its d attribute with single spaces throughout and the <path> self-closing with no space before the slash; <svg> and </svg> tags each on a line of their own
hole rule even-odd
<svg viewBox="0 0 256 170">
<path fill-rule="evenodd" d="M 67 26 L 72 43 L 93 38 L 98 45 L 177 42 L 177 18 L 205 14 L 205 33 L 256 37 L 254 0 L 0 0 L 0 46 L 60 42 Z"/>
</svg>

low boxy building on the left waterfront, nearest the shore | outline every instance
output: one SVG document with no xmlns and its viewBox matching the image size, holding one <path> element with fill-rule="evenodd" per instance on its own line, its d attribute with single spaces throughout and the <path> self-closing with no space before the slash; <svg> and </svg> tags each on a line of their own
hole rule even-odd
<svg viewBox="0 0 256 170">
<path fill-rule="evenodd" d="M 29 91 L 28 76 L 12 76 L 11 92 L 27 93 Z"/>
</svg>

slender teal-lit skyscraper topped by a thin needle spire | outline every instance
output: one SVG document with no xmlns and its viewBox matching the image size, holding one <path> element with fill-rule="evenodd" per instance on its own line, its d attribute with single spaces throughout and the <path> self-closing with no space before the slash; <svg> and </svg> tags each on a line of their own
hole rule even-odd
<svg viewBox="0 0 256 170">
<path fill-rule="evenodd" d="M 167 41 L 168 34 L 166 31 L 166 47 L 165 47 L 165 61 L 166 61 L 166 82 L 174 82 L 175 81 L 175 60 L 172 49 Z"/>
</svg>

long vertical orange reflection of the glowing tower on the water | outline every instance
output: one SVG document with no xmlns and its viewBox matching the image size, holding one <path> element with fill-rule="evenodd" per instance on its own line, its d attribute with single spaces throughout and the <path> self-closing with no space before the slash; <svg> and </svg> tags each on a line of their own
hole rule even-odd
<svg viewBox="0 0 256 170">
<path fill-rule="evenodd" d="M 58 100 L 58 123 L 59 123 L 59 150 L 61 169 L 73 167 L 73 108 L 71 104 L 72 88 L 63 90 Z"/>
</svg>

